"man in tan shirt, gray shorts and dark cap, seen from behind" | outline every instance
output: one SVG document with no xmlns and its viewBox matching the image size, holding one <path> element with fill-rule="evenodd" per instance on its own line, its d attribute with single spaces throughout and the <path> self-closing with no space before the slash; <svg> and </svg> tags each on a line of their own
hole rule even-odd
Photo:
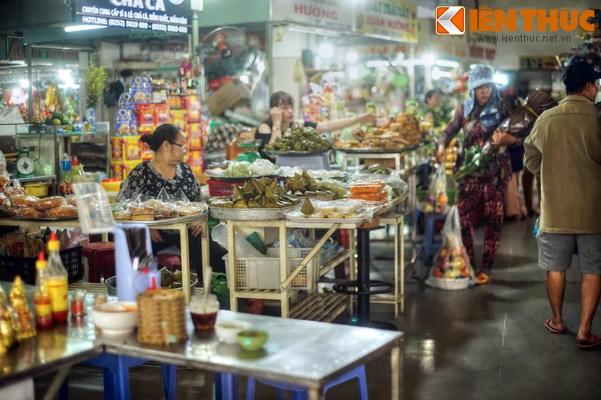
<svg viewBox="0 0 601 400">
<path fill-rule="evenodd" d="M 540 172 L 542 203 L 538 222 L 538 265 L 547 270 L 553 317 L 545 327 L 563 333 L 561 309 L 566 270 L 578 249 L 582 271 L 578 347 L 593 348 L 601 338 L 591 332 L 601 292 L 601 126 L 594 100 L 601 73 L 585 61 L 563 74 L 567 97 L 543 112 L 524 142 L 524 162 Z"/>
</svg>

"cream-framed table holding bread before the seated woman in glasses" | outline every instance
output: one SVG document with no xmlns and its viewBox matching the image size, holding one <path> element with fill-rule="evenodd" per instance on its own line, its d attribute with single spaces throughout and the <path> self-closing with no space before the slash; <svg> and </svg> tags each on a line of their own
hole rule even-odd
<svg viewBox="0 0 601 400">
<path fill-rule="evenodd" d="M 119 223 L 144 223 L 144 221 L 118 221 Z M 188 229 L 192 226 L 201 226 L 200 246 L 203 253 L 203 268 L 209 266 L 209 224 L 208 214 L 189 216 L 180 222 L 172 222 L 168 219 L 157 220 L 148 223 L 151 229 L 174 229 L 180 232 L 180 251 L 182 252 L 182 282 L 190 282 L 190 256 L 188 249 Z M 57 228 L 80 228 L 79 219 L 64 220 L 19 220 L 14 218 L 0 218 L 0 226 L 52 226 Z M 103 234 L 103 240 L 108 240 L 108 234 Z M 205 275 L 203 273 L 203 275 Z M 210 277 L 209 277 L 210 279 Z M 190 298 L 190 285 L 183 285 L 186 299 Z M 187 300 L 186 300 L 187 301 Z"/>
</svg>

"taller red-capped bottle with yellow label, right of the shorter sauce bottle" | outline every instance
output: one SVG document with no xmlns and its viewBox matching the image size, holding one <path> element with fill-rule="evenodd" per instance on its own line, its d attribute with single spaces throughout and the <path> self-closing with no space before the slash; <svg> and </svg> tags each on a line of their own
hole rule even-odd
<svg viewBox="0 0 601 400">
<path fill-rule="evenodd" d="M 50 302 L 52 303 L 52 319 L 56 323 L 67 321 L 69 315 L 69 291 L 67 270 L 59 254 L 60 244 L 56 240 L 56 234 L 50 234 L 50 240 L 46 246 L 48 250 L 48 288 L 50 289 Z"/>
</svg>

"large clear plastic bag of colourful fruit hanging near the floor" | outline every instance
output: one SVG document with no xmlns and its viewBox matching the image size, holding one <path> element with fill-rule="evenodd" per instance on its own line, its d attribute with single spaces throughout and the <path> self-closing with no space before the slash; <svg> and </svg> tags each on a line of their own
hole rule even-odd
<svg viewBox="0 0 601 400">
<path fill-rule="evenodd" d="M 459 210 L 451 207 L 442 228 L 442 247 L 434 256 L 434 265 L 426 283 L 433 288 L 460 290 L 474 282 L 474 269 L 463 246 Z"/>
</svg>

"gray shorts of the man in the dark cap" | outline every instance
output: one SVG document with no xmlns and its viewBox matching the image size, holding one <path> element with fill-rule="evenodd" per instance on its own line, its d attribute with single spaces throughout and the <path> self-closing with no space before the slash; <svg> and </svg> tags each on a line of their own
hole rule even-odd
<svg viewBox="0 0 601 400">
<path fill-rule="evenodd" d="M 565 271 L 572 265 L 576 244 L 583 274 L 601 275 L 601 234 L 553 234 L 538 231 L 538 266 Z"/>
</svg>

